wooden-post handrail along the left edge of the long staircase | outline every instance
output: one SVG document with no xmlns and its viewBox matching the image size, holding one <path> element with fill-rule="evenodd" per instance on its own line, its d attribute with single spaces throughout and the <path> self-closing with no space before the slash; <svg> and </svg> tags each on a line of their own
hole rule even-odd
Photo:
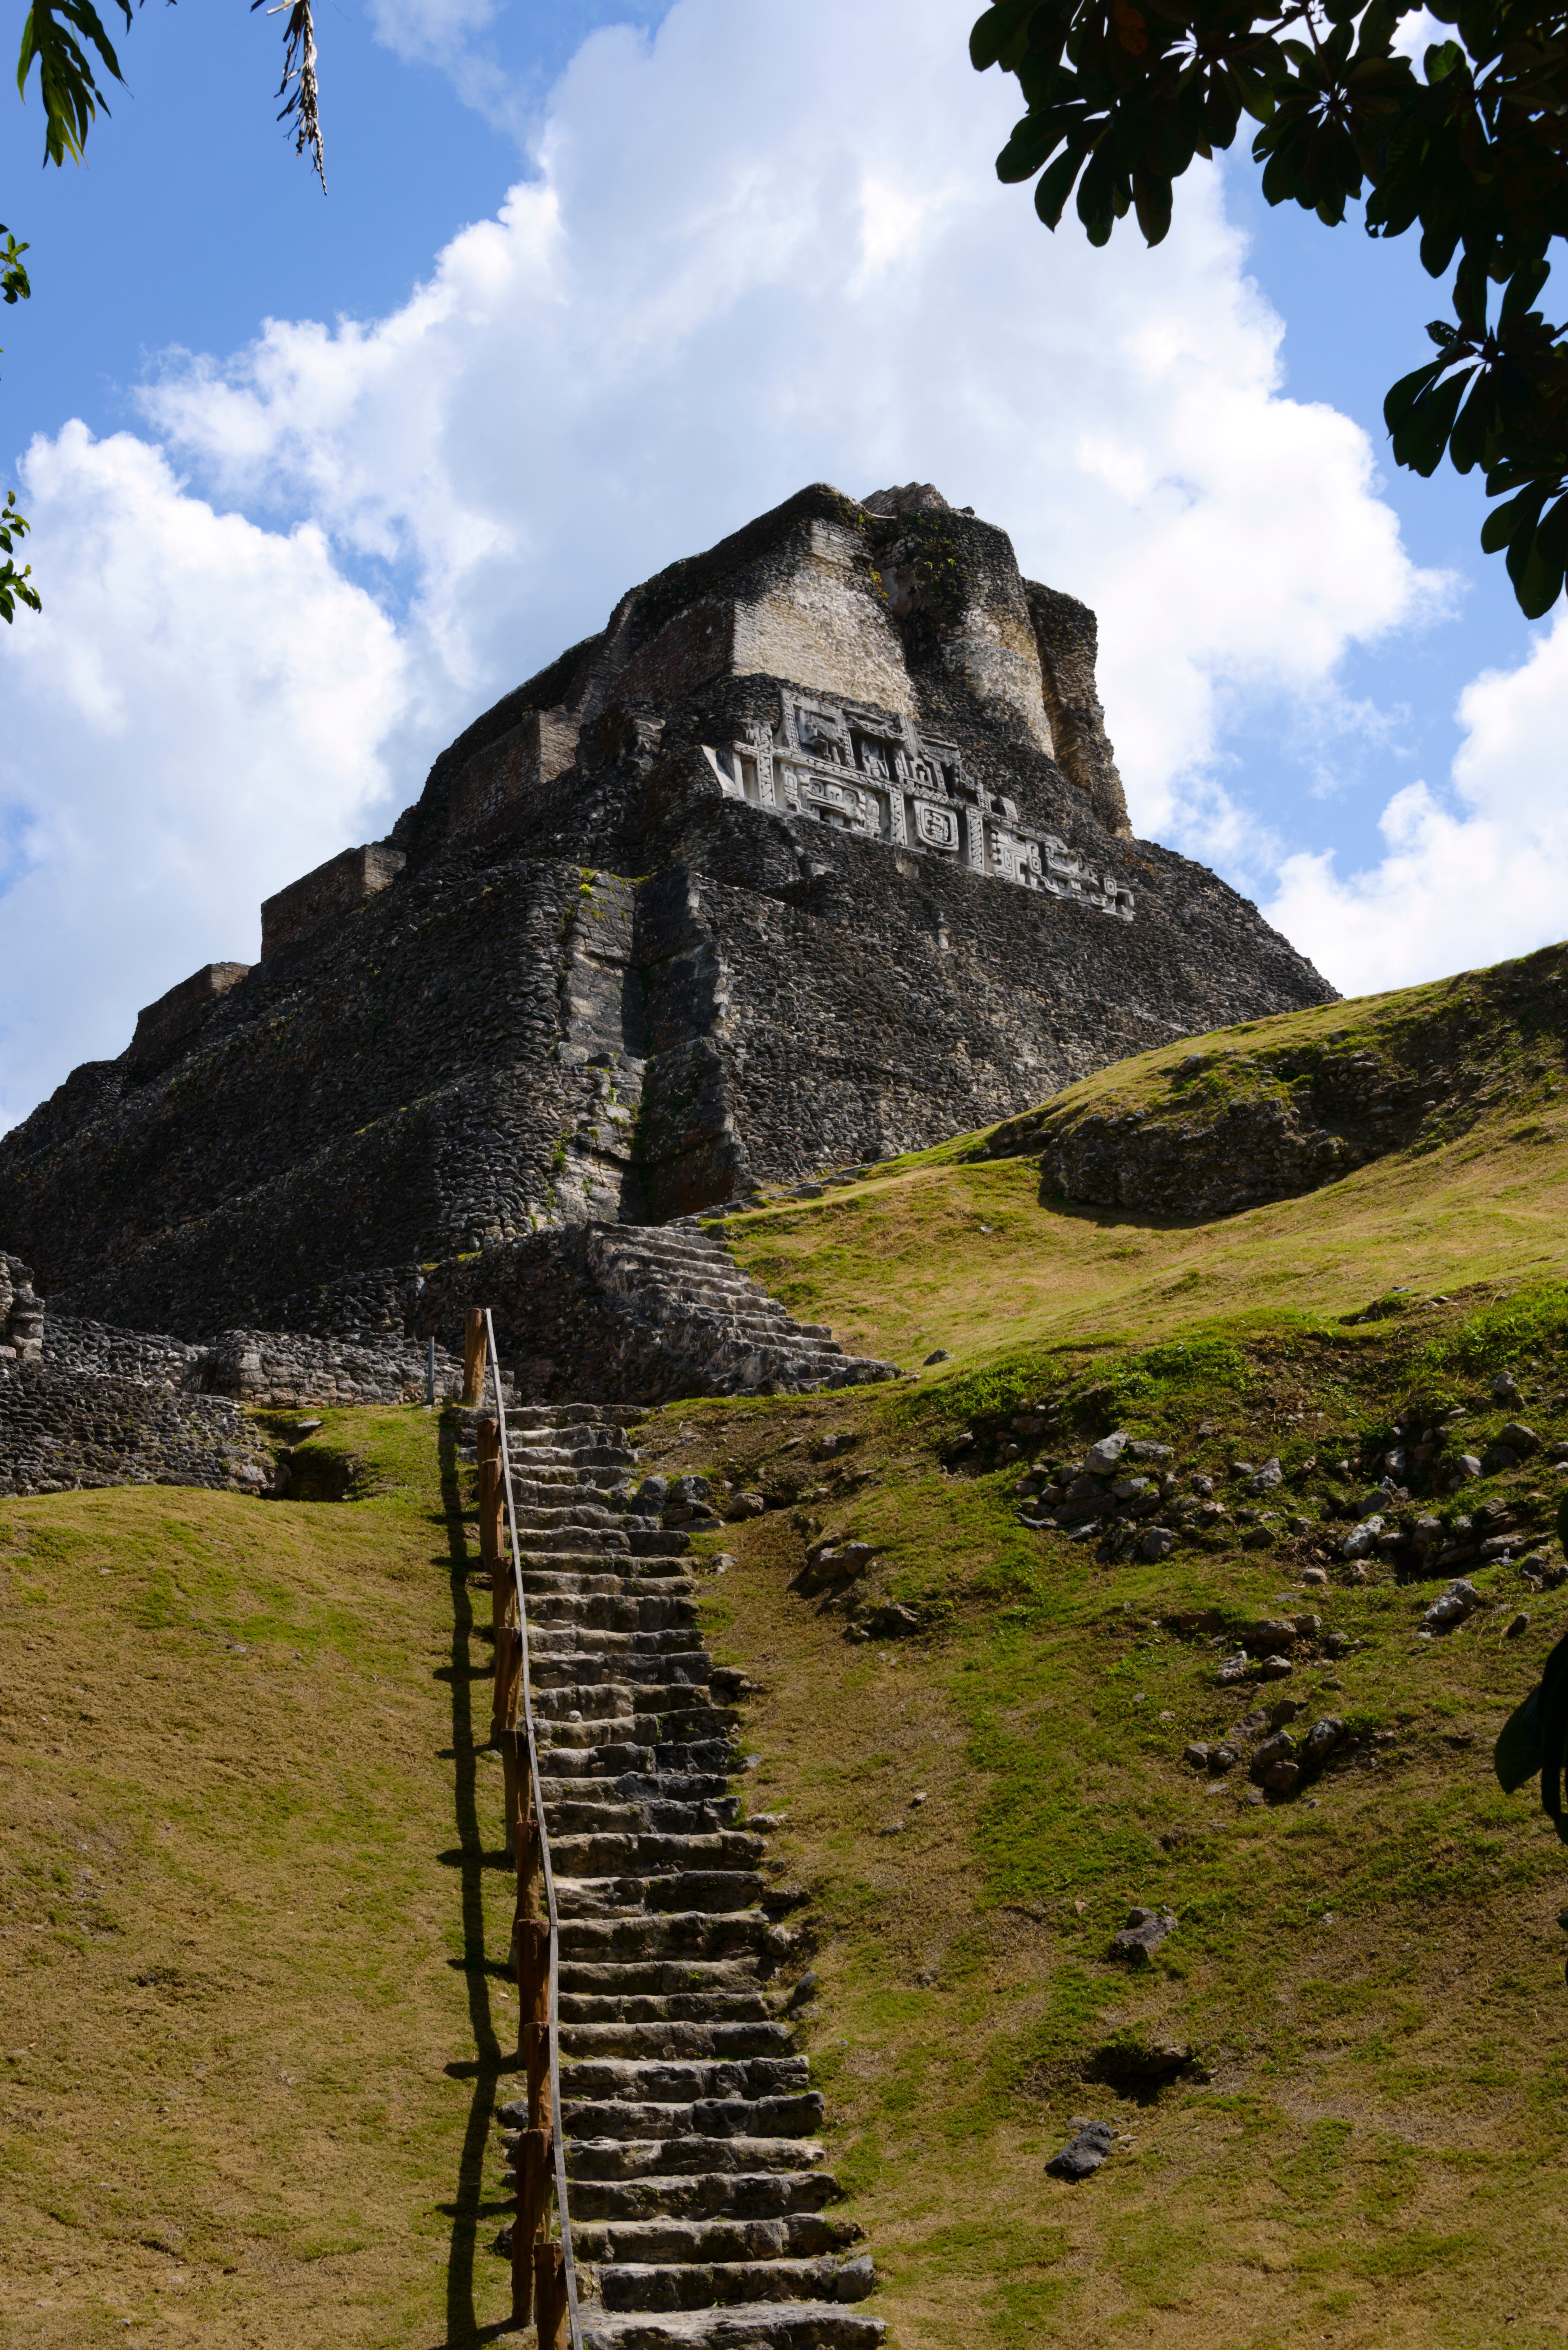
<svg viewBox="0 0 1568 2350">
<path fill-rule="evenodd" d="M 534 1861 L 538 1861 L 538 1875 L 543 1878 L 543 1887 L 545 1887 L 545 1920 L 548 1920 L 548 1936 L 550 1936 L 548 2007 L 545 2007 L 543 2035 L 545 2035 L 545 2047 L 548 2047 L 548 2059 L 550 2059 L 550 2063 L 548 2063 L 548 2082 L 550 2082 L 548 2134 L 550 2134 L 552 2153 L 555 2153 L 555 2214 L 557 2214 L 559 2230 L 562 2230 L 562 2242 L 559 2242 L 559 2287 L 564 2289 L 557 2296 L 557 2275 L 555 2275 L 555 2258 L 552 2258 L 555 2247 L 550 2247 L 548 2242 L 545 2244 L 529 2244 L 529 2242 L 524 2242 L 522 2247 L 517 2247 L 517 2240 L 512 2240 L 512 2308 L 515 2308 L 515 2315 L 522 2315 L 527 2319 L 529 2310 L 527 2310 L 527 2305 L 522 2310 L 517 2310 L 517 2301 L 520 2298 L 524 2298 L 524 2301 L 531 2298 L 534 2301 L 536 2317 L 538 2317 L 538 2345 L 541 2345 L 541 2350 L 557 2350 L 557 2345 L 559 2345 L 559 2319 L 562 2317 L 567 2319 L 567 2341 L 571 2343 L 571 2350 L 583 2350 L 583 2329 L 581 2329 L 581 2322 L 578 2322 L 578 2305 L 576 2305 L 576 2261 L 571 2258 L 571 2214 L 567 2211 L 567 2141 L 562 2136 L 562 2056 L 559 2056 L 559 1941 L 562 1941 L 562 1936 L 559 1936 L 559 1918 L 557 1918 L 557 1911 L 555 1911 L 555 1871 L 550 1868 L 550 1831 L 545 1826 L 545 1802 L 543 1802 L 543 1791 L 541 1791 L 541 1784 L 538 1784 L 538 1739 L 534 1737 L 534 1685 L 529 1680 L 529 1607 L 527 1607 L 527 1600 L 524 1600 L 524 1593 L 522 1593 L 522 1546 L 517 1542 L 517 1506 L 512 1502 L 512 1457 L 510 1457 L 508 1436 L 505 1436 L 505 1398 L 501 1394 L 501 1358 L 496 1354 L 496 1325 L 491 1321 L 491 1309 L 489 1307 L 484 1307 L 484 1337 L 489 1342 L 487 1344 L 489 1372 L 491 1372 L 494 1389 L 496 1389 L 496 1424 L 498 1424 L 498 1436 L 501 1436 L 501 1492 L 503 1492 L 503 1502 L 505 1502 L 505 1523 L 508 1523 L 508 1530 L 510 1530 L 510 1537 L 512 1537 L 512 1586 L 517 1591 L 517 1640 L 520 1640 L 517 1699 L 522 1701 L 522 1730 L 520 1730 L 520 1734 L 522 1734 L 522 1746 L 524 1746 L 527 1765 L 529 1765 L 529 1807 L 527 1807 L 527 1812 L 531 1814 L 524 1821 L 522 1802 L 517 1800 L 522 1795 L 522 1788 L 517 1788 L 517 1798 L 512 1798 L 512 1791 L 508 1786 L 508 1826 L 515 1833 L 515 1854 L 517 1854 L 517 1932 L 512 1936 L 515 1946 L 517 1946 L 517 2037 L 520 2037 L 522 2049 L 529 2056 L 529 2068 L 527 2068 L 529 2070 L 529 2117 L 534 2120 L 534 2113 L 538 2113 L 538 2108 L 543 2106 L 543 2096 L 541 2096 L 543 2080 L 538 2077 L 538 2073 L 543 2068 L 536 2068 L 536 2063 L 534 2063 L 536 2044 L 531 2042 L 529 2035 L 538 2030 L 538 2023 L 529 2021 L 522 2014 L 522 2009 L 524 2009 L 524 1972 L 531 1974 L 534 1986 L 538 1981 L 536 1974 L 534 1974 L 536 1958 L 534 1958 L 534 1967 L 524 1965 L 524 1950 L 527 1950 L 529 1943 L 536 1943 L 536 1936 L 524 1934 L 522 1927 L 524 1927 L 524 1922 L 529 1922 L 527 1915 L 524 1915 L 524 1911 L 527 1911 L 527 1901 L 529 1901 L 529 1885 L 531 1885 Z M 484 1506 L 480 1509 L 480 1525 L 484 1525 Z M 498 1626 L 498 1631 L 501 1631 L 501 1624 L 503 1624 L 503 1610 L 496 1607 L 496 1626 Z M 508 1673 L 508 1680 L 510 1680 L 510 1673 Z M 496 1676 L 496 1690 L 501 1692 L 501 1676 Z M 517 1699 L 512 1699 L 512 1706 L 508 1706 L 508 1711 L 515 1713 Z M 510 1730 L 515 1725 L 508 1723 L 503 1727 Z M 508 1781 L 512 1781 L 512 1772 L 508 1772 Z M 515 2230 L 524 2228 L 524 2214 L 529 2216 L 531 2228 L 538 2228 L 538 2218 L 543 2216 L 543 2181 L 538 2178 L 538 2169 L 541 2169 L 541 2157 L 543 2157 L 545 2148 L 543 2148 L 543 2143 L 538 2143 L 541 2136 L 543 2136 L 543 2131 L 538 2131 L 538 2129 L 529 2129 L 527 2131 L 527 2138 L 534 2141 L 534 2148 L 531 2148 L 531 2157 L 534 2160 L 531 2162 L 524 2160 L 524 2162 L 517 2164 L 517 2218 L 512 2221 Z M 534 2277 L 529 2277 L 529 2291 L 527 2291 L 527 2296 L 520 2291 L 520 2284 L 522 2284 L 522 2280 L 520 2280 L 522 2261 L 517 2256 L 520 2249 L 522 2249 L 524 2258 L 527 2258 L 529 2249 L 534 2251 Z M 527 2275 L 527 2270 L 524 2270 L 524 2275 Z"/>
</svg>

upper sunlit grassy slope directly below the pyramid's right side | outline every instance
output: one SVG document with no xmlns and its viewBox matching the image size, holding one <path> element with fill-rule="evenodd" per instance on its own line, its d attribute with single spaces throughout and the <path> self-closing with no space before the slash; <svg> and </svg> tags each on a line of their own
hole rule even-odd
<svg viewBox="0 0 1568 2350">
<path fill-rule="evenodd" d="M 1559 949 L 1533 959 L 1547 980 L 1559 961 Z M 1345 1058 L 1371 1050 L 1396 1065 L 1410 1032 L 1455 1018 L 1465 994 L 1462 980 L 1443 980 L 1182 1039 L 1067 1088 L 1053 1109 L 1063 1119 L 1159 1112 L 1171 1074 L 1194 1053 L 1211 1062 L 1206 1083 L 1220 1102 L 1227 1086 L 1258 1090 L 1258 1065 L 1286 1046 L 1309 1060 L 1335 1036 Z M 1568 1271 L 1563 1039 L 1540 1034 L 1528 999 L 1509 1020 L 1490 1003 L 1483 1010 L 1486 1022 L 1474 1018 L 1483 1076 L 1465 1086 L 1465 1130 L 1441 1140 L 1439 1116 L 1420 1149 L 1305 1198 L 1211 1224 L 1072 1208 L 1041 1196 L 1032 1159 L 964 1163 L 978 1137 L 959 1135 L 827 1201 L 736 1217 L 726 1234 L 748 1271 L 802 1318 L 832 1321 L 844 1344 L 903 1363 L 936 1347 L 980 1361 L 1001 1342 L 1147 1342 L 1206 1314 L 1338 1314 L 1396 1283 L 1455 1290 Z M 1474 1036 L 1465 1048 L 1476 1050 Z M 1237 1055 L 1244 1069 L 1227 1079 Z M 1187 1088 L 1178 1114 L 1204 1114 Z"/>
</svg>

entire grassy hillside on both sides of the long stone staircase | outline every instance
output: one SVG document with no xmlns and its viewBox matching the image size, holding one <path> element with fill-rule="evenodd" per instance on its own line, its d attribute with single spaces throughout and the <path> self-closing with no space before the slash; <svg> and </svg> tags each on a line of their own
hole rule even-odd
<svg viewBox="0 0 1568 2350">
<path fill-rule="evenodd" d="M 1561 2343 L 1568 1856 L 1490 1772 L 1568 1631 L 1559 971 L 1187 1041 L 726 1224 L 846 1344 L 950 1354 L 639 1438 L 731 1488 L 703 1605 L 755 1683 L 752 1810 L 785 1814 L 802 2037 L 893 2350 Z M 1117 1135 L 1157 1170 L 1354 1166 L 1234 1215 L 1063 1196 Z M 1519 1419 L 1537 1450 L 1455 1488 Z M 1020 1480 L 1112 1429 L 1171 1448 L 1164 1558 L 1020 1523 Z M 381 1490 L 0 1504 L 0 2343 L 501 2319 L 458 1497 L 421 1412 L 327 1443 Z M 1347 1563 L 1389 1452 L 1387 1532 L 1436 1537 Z M 1269 1459 L 1253 1495 L 1232 1464 Z M 1439 1544 L 1483 1535 L 1483 1605 L 1427 1638 Z M 870 1565 L 802 1589 L 823 1542 Z M 1286 1617 L 1288 1676 L 1220 1678 Z M 1276 1706 L 1342 1725 L 1286 1795 L 1251 1774 Z M 1185 1758 L 1222 1741 L 1227 1772 Z M 1143 1967 L 1133 1906 L 1178 1920 Z M 1074 2188 L 1046 2162 L 1079 2117 L 1117 2153 Z"/>
</svg>

